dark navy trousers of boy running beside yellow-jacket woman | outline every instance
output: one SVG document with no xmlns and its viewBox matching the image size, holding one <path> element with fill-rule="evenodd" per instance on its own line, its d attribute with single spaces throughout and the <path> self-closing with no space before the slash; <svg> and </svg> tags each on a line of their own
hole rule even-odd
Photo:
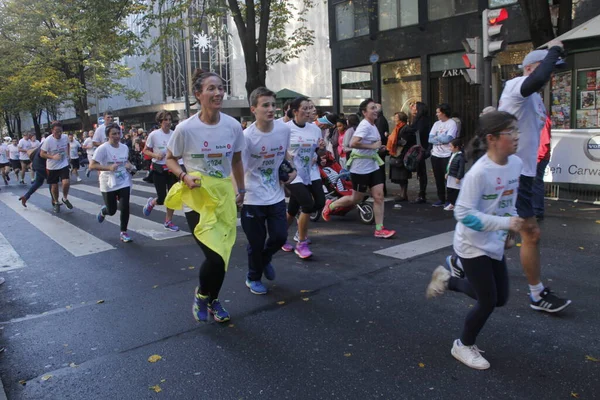
<svg viewBox="0 0 600 400">
<path fill-rule="evenodd" d="M 270 206 L 244 204 L 241 220 L 248 238 L 248 279 L 259 281 L 273 254 L 287 240 L 285 200 Z"/>
</svg>

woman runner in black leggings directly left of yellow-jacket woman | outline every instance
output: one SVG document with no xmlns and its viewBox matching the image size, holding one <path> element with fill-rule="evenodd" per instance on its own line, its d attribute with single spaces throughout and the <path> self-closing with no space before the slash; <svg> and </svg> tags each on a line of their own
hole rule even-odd
<svg viewBox="0 0 600 400">
<path fill-rule="evenodd" d="M 152 209 L 156 205 L 163 205 L 167 192 L 171 189 L 175 183 L 177 183 L 177 177 L 173 175 L 167 166 L 165 165 L 167 156 L 167 144 L 173 131 L 171 130 L 172 117 L 168 111 L 159 111 L 156 114 L 156 123 L 159 124 L 160 128 L 150 132 L 148 139 L 146 140 L 146 147 L 144 148 L 144 154 L 152 157 L 152 170 L 154 171 L 153 182 L 154 188 L 156 189 L 157 197 L 150 197 L 144 206 L 144 215 L 150 216 Z M 173 223 L 173 210 L 167 207 L 167 215 L 165 216 L 165 223 L 163 224 L 165 229 L 173 232 L 177 232 L 179 227 Z"/>
</svg>

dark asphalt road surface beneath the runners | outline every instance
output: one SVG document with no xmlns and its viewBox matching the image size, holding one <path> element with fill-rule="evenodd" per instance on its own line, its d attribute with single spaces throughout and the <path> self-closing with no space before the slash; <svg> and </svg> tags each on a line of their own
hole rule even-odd
<svg viewBox="0 0 600 400">
<path fill-rule="evenodd" d="M 58 216 L 49 214 L 45 187 L 29 214 L 11 203 L 23 187 L 0 192 L 0 248 L 22 260 L 9 271 L 0 262 L 0 377 L 9 399 L 600 398 L 596 207 L 548 204 L 543 275 L 573 300 L 565 312 L 529 308 L 518 248 L 509 251 L 511 299 L 478 340 L 492 367 L 475 371 L 450 355 L 473 301 L 424 295 L 450 247 L 408 260 L 374 253 L 451 231 L 451 213 L 386 203 L 386 227 L 398 231 L 391 240 L 373 238 L 356 213 L 318 222 L 310 230 L 313 259 L 279 252 L 266 296 L 244 285 L 239 229 L 221 293 L 232 319 L 197 323 L 192 293 L 203 256 L 192 237 L 156 240 L 166 231 L 155 210 L 147 220 L 156 231 L 140 228 L 145 235 L 119 242 L 116 225 L 98 224 L 78 207 L 100 207 L 94 182 L 74 184 L 75 209 Z M 134 195 L 148 197 L 150 186 L 136 186 Z M 145 219 L 140 205 L 132 214 Z M 56 224 L 38 226 L 42 217 Z M 174 221 L 187 230 L 183 217 Z M 73 249 L 76 238 L 60 232 L 75 227 L 79 238 L 114 248 L 73 255 L 85 246 Z M 151 363 L 152 355 L 162 358 Z"/>
</svg>

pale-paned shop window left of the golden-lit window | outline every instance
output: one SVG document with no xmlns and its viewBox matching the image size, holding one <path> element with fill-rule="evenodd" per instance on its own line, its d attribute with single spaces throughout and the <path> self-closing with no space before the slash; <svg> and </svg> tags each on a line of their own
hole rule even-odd
<svg viewBox="0 0 600 400">
<path fill-rule="evenodd" d="M 373 97 L 372 73 L 370 65 L 340 70 L 340 109 L 343 113 L 356 113 L 361 101 Z"/>
</svg>

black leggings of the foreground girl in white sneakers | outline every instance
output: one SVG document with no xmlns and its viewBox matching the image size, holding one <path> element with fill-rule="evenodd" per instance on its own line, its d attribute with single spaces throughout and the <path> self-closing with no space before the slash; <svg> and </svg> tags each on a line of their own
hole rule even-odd
<svg viewBox="0 0 600 400">
<path fill-rule="evenodd" d="M 508 271 L 504 258 L 498 261 L 487 256 L 461 257 L 460 261 L 466 279 L 452 277 L 448 288 L 477 300 L 465 318 L 460 336 L 465 346 L 472 346 L 494 308 L 502 307 L 508 301 Z"/>
</svg>

